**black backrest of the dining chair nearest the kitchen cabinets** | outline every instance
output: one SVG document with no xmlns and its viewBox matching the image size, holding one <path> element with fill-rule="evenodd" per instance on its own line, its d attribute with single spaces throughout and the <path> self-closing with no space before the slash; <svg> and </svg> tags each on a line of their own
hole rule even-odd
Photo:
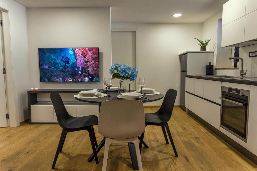
<svg viewBox="0 0 257 171">
<path fill-rule="evenodd" d="M 171 118 L 171 114 L 172 114 L 174 103 L 175 103 L 175 100 L 177 97 L 177 93 L 178 93 L 177 90 L 169 89 L 166 92 L 165 97 L 162 102 L 162 105 L 161 105 L 161 108 L 158 111 L 161 113 L 161 117 L 163 117 L 165 120 L 167 120 L 167 122 Z"/>
</svg>

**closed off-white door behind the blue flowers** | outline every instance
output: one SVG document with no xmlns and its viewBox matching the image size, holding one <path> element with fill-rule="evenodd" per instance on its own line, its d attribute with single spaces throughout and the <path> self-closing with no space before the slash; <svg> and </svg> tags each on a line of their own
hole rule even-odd
<svg viewBox="0 0 257 171">
<path fill-rule="evenodd" d="M 136 66 L 136 32 L 112 32 L 112 64 L 128 64 L 132 68 Z M 119 84 L 117 79 L 113 80 L 113 86 Z M 126 83 L 128 89 L 128 85 Z M 130 89 L 135 90 L 135 82 Z"/>
</svg>

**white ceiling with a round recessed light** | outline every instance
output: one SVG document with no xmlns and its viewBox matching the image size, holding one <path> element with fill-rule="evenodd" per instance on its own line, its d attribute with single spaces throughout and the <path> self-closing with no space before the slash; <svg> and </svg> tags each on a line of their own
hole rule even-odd
<svg viewBox="0 0 257 171">
<path fill-rule="evenodd" d="M 112 23 L 202 23 L 228 0 L 15 0 L 31 7 L 109 7 Z M 181 13 L 181 17 L 173 14 Z"/>
</svg>

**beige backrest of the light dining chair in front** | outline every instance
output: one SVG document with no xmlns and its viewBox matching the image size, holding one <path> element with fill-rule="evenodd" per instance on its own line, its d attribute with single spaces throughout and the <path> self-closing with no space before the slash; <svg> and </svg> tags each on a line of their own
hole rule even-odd
<svg viewBox="0 0 257 171">
<path fill-rule="evenodd" d="M 101 135 L 127 139 L 144 131 L 144 105 L 140 100 L 107 100 L 101 104 L 98 124 Z"/>
</svg>

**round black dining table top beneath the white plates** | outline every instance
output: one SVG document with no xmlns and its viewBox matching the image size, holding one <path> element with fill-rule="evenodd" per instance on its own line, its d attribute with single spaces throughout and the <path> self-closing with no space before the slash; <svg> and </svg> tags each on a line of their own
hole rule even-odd
<svg viewBox="0 0 257 171">
<path fill-rule="evenodd" d="M 134 91 L 134 90 L 131 90 Z M 110 96 L 112 97 L 98 97 L 98 98 L 77 98 L 75 97 L 75 99 L 81 101 L 81 102 L 88 102 L 88 103 L 98 103 L 101 104 L 106 100 L 113 100 L 113 97 L 116 97 L 118 95 L 118 93 L 110 93 Z M 154 102 L 157 100 L 160 100 L 163 98 L 163 94 L 157 94 L 157 95 L 145 95 L 145 97 L 149 98 L 148 100 L 142 101 L 143 103 L 147 103 L 147 102 Z"/>
</svg>

